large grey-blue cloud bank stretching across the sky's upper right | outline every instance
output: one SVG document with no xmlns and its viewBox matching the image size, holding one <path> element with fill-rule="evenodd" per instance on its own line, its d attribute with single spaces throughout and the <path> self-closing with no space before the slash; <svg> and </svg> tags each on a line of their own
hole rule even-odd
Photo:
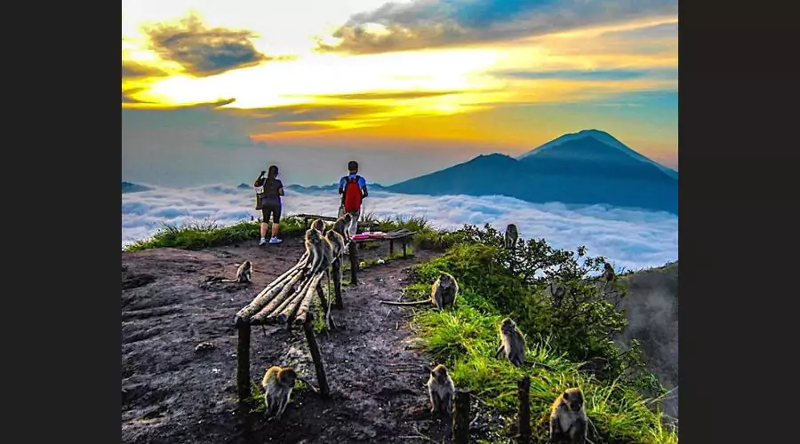
<svg viewBox="0 0 800 444">
<path fill-rule="evenodd" d="M 413 0 L 358 13 L 318 51 L 408 51 L 544 36 L 588 26 L 677 14 L 677 0 Z M 385 32 L 373 32 L 371 25 Z"/>
</svg>

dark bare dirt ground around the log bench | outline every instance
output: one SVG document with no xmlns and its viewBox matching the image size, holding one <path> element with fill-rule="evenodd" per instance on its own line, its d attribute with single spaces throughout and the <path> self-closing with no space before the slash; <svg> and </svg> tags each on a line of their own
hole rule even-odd
<svg viewBox="0 0 800 444">
<path fill-rule="evenodd" d="M 387 249 L 361 256 L 385 257 Z M 409 266 L 429 258 L 426 251 L 364 270 L 360 285 L 343 288 L 345 309 L 334 312 L 340 329 L 317 336 L 331 400 L 295 391 L 280 423 L 236 415 L 234 315 L 302 251 L 295 239 L 266 249 L 247 242 L 204 251 L 123 253 L 123 442 L 424 442 L 405 437 L 415 430 L 442 441 L 444 425 L 427 412 L 428 375 L 421 366 L 428 361 L 406 350 L 409 313 L 378 303 L 400 297 Z M 245 258 L 255 270 L 252 287 L 204 288 L 206 276 L 232 277 Z M 201 342 L 214 348 L 195 352 Z M 282 365 L 316 384 L 299 330 L 254 328 L 251 353 L 253 379 Z"/>
</svg>

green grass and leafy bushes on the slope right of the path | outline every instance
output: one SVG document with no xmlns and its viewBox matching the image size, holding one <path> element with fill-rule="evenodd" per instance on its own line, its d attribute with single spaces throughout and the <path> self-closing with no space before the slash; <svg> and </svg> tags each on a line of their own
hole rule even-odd
<svg viewBox="0 0 800 444">
<path fill-rule="evenodd" d="M 414 318 L 420 349 L 448 366 L 456 385 L 513 416 L 516 381 L 530 375 L 535 441 L 547 439 L 553 400 L 578 386 L 594 424 L 589 433 L 594 442 L 677 442 L 676 433 L 661 423 L 657 401 L 665 391 L 644 369 L 641 347 L 632 341 L 623 351 L 614 344 L 627 323 L 618 306 L 625 289 L 589 277 L 599 273 L 604 258 L 587 257 L 583 247 L 575 253 L 555 250 L 544 240 L 506 250 L 502 235 L 488 225 L 465 226 L 452 238 L 460 241 L 444 256 L 415 266 L 407 292 L 412 299 L 427 294 L 439 271 L 459 279 L 455 310 L 428 310 Z M 549 283 L 568 289 L 560 305 L 554 304 Z M 517 369 L 494 358 L 505 316 L 526 336 L 527 360 L 553 369 Z M 586 371 L 587 363 L 594 372 Z"/>
</svg>

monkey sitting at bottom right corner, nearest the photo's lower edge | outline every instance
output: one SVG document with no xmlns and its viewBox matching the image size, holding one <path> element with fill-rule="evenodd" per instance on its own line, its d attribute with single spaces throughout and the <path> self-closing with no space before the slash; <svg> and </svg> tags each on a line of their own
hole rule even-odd
<svg viewBox="0 0 800 444">
<path fill-rule="evenodd" d="M 585 444 L 588 416 L 583 407 L 583 392 L 573 387 L 564 390 L 550 408 L 550 438 L 548 443 L 569 442 Z"/>
</svg>

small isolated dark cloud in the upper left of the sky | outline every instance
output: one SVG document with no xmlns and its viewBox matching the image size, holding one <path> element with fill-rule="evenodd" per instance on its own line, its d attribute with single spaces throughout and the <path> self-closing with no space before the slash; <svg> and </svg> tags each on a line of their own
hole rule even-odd
<svg viewBox="0 0 800 444">
<path fill-rule="evenodd" d="M 151 47 L 165 60 L 179 63 L 191 75 L 220 74 L 231 69 L 252 67 L 270 59 L 253 46 L 251 31 L 207 28 L 194 15 L 177 23 L 146 27 Z"/>
</svg>

